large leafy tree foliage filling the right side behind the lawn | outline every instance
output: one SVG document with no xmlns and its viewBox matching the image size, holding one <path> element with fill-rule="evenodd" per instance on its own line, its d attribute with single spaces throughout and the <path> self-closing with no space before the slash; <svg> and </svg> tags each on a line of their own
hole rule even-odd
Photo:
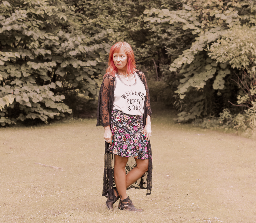
<svg viewBox="0 0 256 223">
<path fill-rule="evenodd" d="M 180 109 L 178 121 L 215 116 L 231 106 L 228 101 L 251 107 L 255 101 L 256 3 L 183 0 L 181 6 L 177 11 L 153 8 L 144 12 L 144 21 L 155 27 L 182 25 L 193 39 L 170 64 L 170 71 L 183 75 L 175 92 L 187 106 Z"/>
</svg>

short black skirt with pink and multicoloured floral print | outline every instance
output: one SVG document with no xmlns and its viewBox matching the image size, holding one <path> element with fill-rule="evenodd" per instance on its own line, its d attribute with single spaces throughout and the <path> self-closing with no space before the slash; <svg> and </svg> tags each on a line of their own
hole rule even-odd
<svg viewBox="0 0 256 223">
<path fill-rule="evenodd" d="M 123 111 L 113 110 L 111 132 L 114 142 L 107 151 L 123 157 L 148 159 L 147 141 L 143 131 L 142 116 L 127 115 Z"/>
</svg>

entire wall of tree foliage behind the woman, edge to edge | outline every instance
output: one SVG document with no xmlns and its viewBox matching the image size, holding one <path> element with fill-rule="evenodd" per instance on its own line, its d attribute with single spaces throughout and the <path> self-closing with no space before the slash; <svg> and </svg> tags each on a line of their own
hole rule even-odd
<svg viewBox="0 0 256 223">
<path fill-rule="evenodd" d="M 5 0 L 0 12 L 0 98 L 15 99 L 1 101 L 2 125 L 91 108 L 117 41 L 131 44 L 152 99 L 173 104 L 177 121 L 229 112 L 233 126 L 251 123 L 253 0 Z"/>
</svg>

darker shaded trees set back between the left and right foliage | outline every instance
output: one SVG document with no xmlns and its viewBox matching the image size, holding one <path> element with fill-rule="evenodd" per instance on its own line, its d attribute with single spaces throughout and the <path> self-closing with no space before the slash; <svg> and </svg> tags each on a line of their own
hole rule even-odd
<svg viewBox="0 0 256 223">
<path fill-rule="evenodd" d="M 129 42 L 136 55 L 138 69 L 147 75 L 151 98 L 164 98 L 168 103 L 171 103 L 169 98 L 172 90 L 166 82 L 176 86 L 173 83 L 176 78 L 169 70 L 169 64 L 181 50 L 186 49 L 190 38 L 187 38 L 186 32 L 182 33 L 181 25 L 179 29 L 160 25 L 156 29 L 153 24 L 144 21 L 143 12 L 154 7 L 176 10 L 179 6 L 175 2 L 97 0 L 78 1 L 74 5 L 85 24 L 82 32 L 97 37 L 91 38 L 91 44 L 109 43 L 111 46 L 117 41 Z M 184 41 L 179 44 L 181 39 Z M 104 56 L 100 58 L 101 61 L 107 60 L 107 53 Z"/>
</svg>

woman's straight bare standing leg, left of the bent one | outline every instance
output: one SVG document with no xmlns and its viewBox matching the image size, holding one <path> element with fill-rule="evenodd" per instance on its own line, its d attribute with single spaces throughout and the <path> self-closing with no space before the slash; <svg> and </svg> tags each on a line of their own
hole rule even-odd
<svg viewBox="0 0 256 223">
<path fill-rule="evenodd" d="M 127 186 L 126 186 L 126 174 L 125 174 L 125 166 L 127 161 L 128 161 L 128 157 L 115 155 L 114 179 L 115 179 L 116 189 L 119 193 L 120 199 L 122 200 L 127 198 L 127 194 L 126 194 Z"/>
</svg>

